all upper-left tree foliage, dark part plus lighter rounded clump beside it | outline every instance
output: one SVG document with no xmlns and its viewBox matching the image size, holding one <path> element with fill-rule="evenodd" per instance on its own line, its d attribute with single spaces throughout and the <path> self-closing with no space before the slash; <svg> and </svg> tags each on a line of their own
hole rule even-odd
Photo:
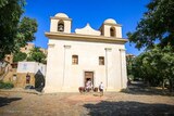
<svg viewBox="0 0 174 116">
<path fill-rule="evenodd" d="M 0 60 L 34 40 L 35 20 L 24 17 L 25 0 L 0 0 Z"/>
</svg>

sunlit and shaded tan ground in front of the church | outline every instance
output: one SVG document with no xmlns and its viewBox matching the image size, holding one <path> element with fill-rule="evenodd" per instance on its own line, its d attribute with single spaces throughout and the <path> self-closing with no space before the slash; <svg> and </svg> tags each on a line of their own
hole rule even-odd
<svg viewBox="0 0 174 116">
<path fill-rule="evenodd" d="M 174 96 L 141 92 L 0 91 L 0 116 L 174 116 Z"/>
</svg>

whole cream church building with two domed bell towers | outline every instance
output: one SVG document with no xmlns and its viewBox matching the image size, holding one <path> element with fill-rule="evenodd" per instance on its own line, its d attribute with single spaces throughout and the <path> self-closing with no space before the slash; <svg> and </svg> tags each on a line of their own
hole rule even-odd
<svg viewBox="0 0 174 116">
<path fill-rule="evenodd" d="M 122 26 L 105 20 L 99 30 L 87 24 L 71 31 L 72 18 L 64 13 L 51 17 L 46 93 L 78 92 L 91 80 L 94 87 L 102 81 L 104 91 L 120 91 L 127 87 L 125 42 Z"/>
</svg>

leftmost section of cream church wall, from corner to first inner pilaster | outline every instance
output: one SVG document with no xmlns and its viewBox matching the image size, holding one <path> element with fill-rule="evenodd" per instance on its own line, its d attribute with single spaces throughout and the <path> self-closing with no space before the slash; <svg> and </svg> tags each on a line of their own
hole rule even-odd
<svg viewBox="0 0 174 116">
<path fill-rule="evenodd" d="M 45 92 L 58 92 L 62 89 L 64 48 L 51 42 L 49 44 Z"/>
</svg>

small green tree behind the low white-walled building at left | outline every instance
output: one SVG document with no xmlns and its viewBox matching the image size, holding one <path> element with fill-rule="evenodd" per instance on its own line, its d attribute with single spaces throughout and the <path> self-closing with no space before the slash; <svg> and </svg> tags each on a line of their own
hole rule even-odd
<svg viewBox="0 0 174 116">
<path fill-rule="evenodd" d="M 23 52 L 17 52 L 13 55 L 13 62 L 20 62 L 26 60 L 27 54 Z"/>
</svg>

